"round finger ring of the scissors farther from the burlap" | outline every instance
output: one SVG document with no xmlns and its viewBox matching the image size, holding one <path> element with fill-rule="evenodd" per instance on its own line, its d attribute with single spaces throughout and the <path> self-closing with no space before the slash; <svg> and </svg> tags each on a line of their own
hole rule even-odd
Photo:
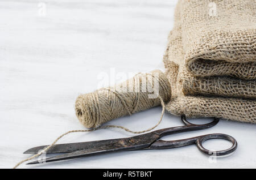
<svg viewBox="0 0 256 180">
<path fill-rule="evenodd" d="M 226 139 L 229 142 L 232 142 L 233 145 L 232 145 L 232 147 L 222 150 L 222 151 L 210 151 L 203 147 L 203 142 L 205 142 L 206 140 L 209 140 L 209 139 Z M 199 136 L 199 138 L 196 141 L 196 145 L 197 145 L 197 148 L 199 148 L 199 150 L 201 152 L 203 152 L 209 156 L 212 156 L 212 155 L 213 156 L 224 156 L 224 155 L 229 155 L 230 153 L 232 153 L 236 150 L 237 141 L 232 136 L 226 135 L 226 134 L 207 134 L 207 135 Z"/>
</svg>

